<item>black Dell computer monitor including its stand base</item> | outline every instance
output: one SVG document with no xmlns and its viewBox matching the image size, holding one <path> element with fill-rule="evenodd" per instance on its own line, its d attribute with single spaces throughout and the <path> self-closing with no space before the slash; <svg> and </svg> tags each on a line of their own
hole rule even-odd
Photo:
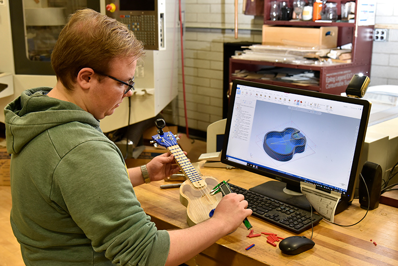
<svg viewBox="0 0 398 266">
<path fill-rule="evenodd" d="M 234 80 L 221 162 L 282 181 L 250 190 L 293 206 L 310 209 L 300 182 L 350 204 L 370 108 L 362 99 Z"/>
</svg>

